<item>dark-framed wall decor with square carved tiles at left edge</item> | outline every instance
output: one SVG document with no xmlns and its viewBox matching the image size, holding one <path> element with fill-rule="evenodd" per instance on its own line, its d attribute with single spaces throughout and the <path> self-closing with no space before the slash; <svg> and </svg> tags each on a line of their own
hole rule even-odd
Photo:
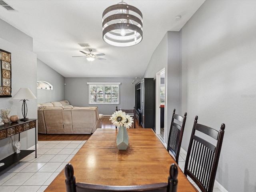
<svg viewBox="0 0 256 192">
<path fill-rule="evenodd" d="M 11 53 L 0 49 L 1 81 L 0 97 L 12 97 Z"/>
</svg>

